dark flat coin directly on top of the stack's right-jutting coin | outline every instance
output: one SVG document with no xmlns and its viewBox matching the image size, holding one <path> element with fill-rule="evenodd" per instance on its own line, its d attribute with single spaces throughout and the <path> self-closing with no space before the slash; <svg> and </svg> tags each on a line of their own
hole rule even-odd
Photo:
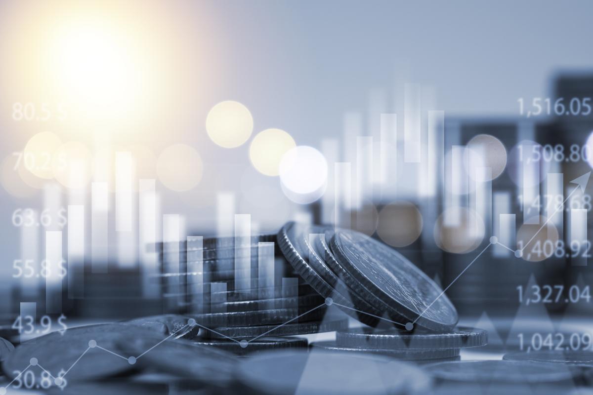
<svg viewBox="0 0 593 395">
<path fill-rule="evenodd" d="M 319 309 L 317 309 L 319 310 Z M 325 311 L 313 310 L 302 317 L 301 321 L 314 321 L 322 319 Z M 200 325 L 204 326 L 250 326 L 281 324 L 297 317 L 296 309 L 271 309 L 240 311 L 235 313 L 206 313 L 195 314 L 193 318 Z"/>
</svg>

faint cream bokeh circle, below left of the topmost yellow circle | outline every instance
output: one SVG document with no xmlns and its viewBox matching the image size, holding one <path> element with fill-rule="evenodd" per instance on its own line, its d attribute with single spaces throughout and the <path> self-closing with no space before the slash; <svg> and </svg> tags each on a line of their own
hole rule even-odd
<svg viewBox="0 0 593 395">
<path fill-rule="evenodd" d="M 202 158 L 187 144 L 165 148 L 157 160 L 158 179 L 173 191 L 189 191 L 202 179 Z"/>
</svg>

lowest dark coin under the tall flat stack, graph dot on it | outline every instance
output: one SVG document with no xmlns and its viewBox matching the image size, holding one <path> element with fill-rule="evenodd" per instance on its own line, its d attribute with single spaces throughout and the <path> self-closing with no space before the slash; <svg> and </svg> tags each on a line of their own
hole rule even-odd
<svg viewBox="0 0 593 395">
<path fill-rule="evenodd" d="M 291 338 L 289 336 L 283 338 L 259 338 L 252 342 L 244 343 L 246 346 L 243 346 L 240 342 L 224 339 L 194 341 L 193 343 L 200 346 L 223 349 L 224 351 L 229 351 L 236 355 L 247 355 L 256 352 L 288 348 L 307 348 L 309 344 L 307 339 Z"/>
</svg>

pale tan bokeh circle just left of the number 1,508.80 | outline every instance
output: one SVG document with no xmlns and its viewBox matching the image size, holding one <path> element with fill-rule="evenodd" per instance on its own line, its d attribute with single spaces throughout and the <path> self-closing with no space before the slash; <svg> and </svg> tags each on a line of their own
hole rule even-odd
<svg viewBox="0 0 593 395">
<path fill-rule="evenodd" d="M 466 160 L 468 173 L 473 179 L 476 177 L 477 168 L 490 168 L 489 178 L 482 178 L 480 181 L 490 181 L 497 178 L 506 167 L 506 149 L 505 146 L 494 136 L 490 134 L 478 134 L 467 143 L 470 158 Z M 471 171 L 473 169 L 473 171 Z"/>
</svg>

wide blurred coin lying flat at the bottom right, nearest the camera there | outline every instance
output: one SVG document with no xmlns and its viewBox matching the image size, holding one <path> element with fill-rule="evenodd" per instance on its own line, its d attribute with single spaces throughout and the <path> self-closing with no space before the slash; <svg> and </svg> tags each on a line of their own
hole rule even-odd
<svg viewBox="0 0 593 395">
<path fill-rule="evenodd" d="M 546 362 L 442 362 L 425 369 L 439 380 L 469 383 L 558 383 L 572 379 L 568 368 Z"/>
</svg>

